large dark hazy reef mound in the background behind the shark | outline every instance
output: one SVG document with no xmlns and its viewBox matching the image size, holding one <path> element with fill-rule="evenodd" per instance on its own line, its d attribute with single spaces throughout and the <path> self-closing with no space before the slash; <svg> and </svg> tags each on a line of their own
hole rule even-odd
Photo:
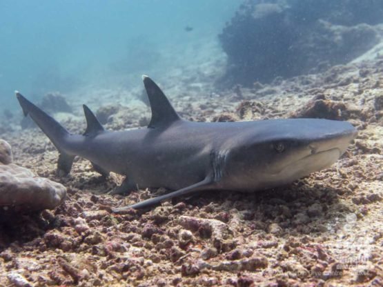
<svg viewBox="0 0 383 287">
<path fill-rule="evenodd" d="M 348 63 L 381 41 L 382 19 L 375 0 L 244 1 L 219 34 L 228 64 L 217 84 L 252 86 Z"/>
</svg>

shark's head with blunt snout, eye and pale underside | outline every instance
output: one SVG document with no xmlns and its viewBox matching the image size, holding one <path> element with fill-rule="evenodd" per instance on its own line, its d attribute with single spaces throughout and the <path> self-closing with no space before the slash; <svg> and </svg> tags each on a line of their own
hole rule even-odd
<svg viewBox="0 0 383 287">
<path fill-rule="evenodd" d="M 228 174 L 244 190 L 288 184 L 331 166 L 357 134 L 346 121 L 271 120 L 243 135 L 246 145 L 234 148 Z M 234 179 L 233 179 L 234 177 Z"/>
</svg>

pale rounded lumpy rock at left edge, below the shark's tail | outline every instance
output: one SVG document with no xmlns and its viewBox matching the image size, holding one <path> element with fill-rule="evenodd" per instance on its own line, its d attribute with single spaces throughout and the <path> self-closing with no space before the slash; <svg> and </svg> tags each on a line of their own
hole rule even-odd
<svg viewBox="0 0 383 287">
<path fill-rule="evenodd" d="M 66 197 L 63 185 L 13 164 L 10 144 L 3 139 L 0 139 L 0 181 L 0 206 L 4 211 L 53 209 Z"/>
</svg>

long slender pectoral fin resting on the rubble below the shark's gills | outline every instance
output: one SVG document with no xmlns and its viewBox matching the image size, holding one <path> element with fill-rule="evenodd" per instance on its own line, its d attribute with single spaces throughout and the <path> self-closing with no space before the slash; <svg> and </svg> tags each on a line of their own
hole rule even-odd
<svg viewBox="0 0 383 287">
<path fill-rule="evenodd" d="M 179 197 L 182 195 L 190 195 L 194 192 L 199 192 L 201 190 L 207 190 L 214 187 L 215 182 L 211 179 L 211 177 L 206 177 L 203 181 L 199 181 L 197 184 L 192 184 L 191 186 L 187 186 L 186 188 L 181 188 L 179 190 L 170 192 L 166 195 L 161 195 L 160 197 L 155 197 L 151 199 L 146 199 L 137 204 L 132 204 L 131 206 L 124 206 L 120 208 L 112 209 L 113 212 L 121 212 L 124 210 L 128 210 L 129 208 L 146 208 L 148 206 L 153 206 L 155 204 L 159 204 L 159 202 L 170 199 L 173 197 Z"/>
</svg>

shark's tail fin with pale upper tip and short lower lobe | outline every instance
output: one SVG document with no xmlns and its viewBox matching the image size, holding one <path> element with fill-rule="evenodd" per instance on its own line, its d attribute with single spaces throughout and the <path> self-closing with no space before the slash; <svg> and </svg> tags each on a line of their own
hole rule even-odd
<svg viewBox="0 0 383 287">
<path fill-rule="evenodd" d="M 46 136 L 52 141 L 57 150 L 59 150 L 59 161 L 57 162 L 57 172 L 59 175 L 67 175 L 72 168 L 74 155 L 70 155 L 65 152 L 64 146 L 68 141 L 70 133 L 66 128 L 61 126 L 59 122 L 50 117 L 46 112 L 43 112 L 40 108 L 28 101 L 23 95 L 15 91 L 17 100 L 23 108 L 24 116 L 29 115 L 30 118 L 35 121 L 37 126 L 46 134 Z"/>
</svg>

